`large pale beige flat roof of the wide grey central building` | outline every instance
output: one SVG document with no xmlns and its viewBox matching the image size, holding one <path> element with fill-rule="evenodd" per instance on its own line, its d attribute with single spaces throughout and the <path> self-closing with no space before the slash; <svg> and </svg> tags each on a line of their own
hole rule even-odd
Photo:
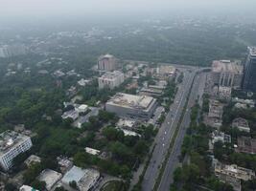
<svg viewBox="0 0 256 191">
<path fill-rule="evenodd" d="M 148 109 L 153 100 L 155 99 L 151 96 L 134 96 L 118 93 L 115 96 L 112 96 L 107 101 L 107 104 L 135 109 Z"/>
</svg>

